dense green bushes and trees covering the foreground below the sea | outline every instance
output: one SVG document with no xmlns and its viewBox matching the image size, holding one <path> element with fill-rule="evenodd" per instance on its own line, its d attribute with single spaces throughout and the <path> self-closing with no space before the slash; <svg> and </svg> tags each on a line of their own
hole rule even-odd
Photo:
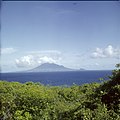
<svg viewBox="0 0 120 120">
<path fill-rule="evenodd" d="M 101 84 L 0 81 L 0 120 L 120 120 L 120 64 L 116 67 Z"/>
</svg>

